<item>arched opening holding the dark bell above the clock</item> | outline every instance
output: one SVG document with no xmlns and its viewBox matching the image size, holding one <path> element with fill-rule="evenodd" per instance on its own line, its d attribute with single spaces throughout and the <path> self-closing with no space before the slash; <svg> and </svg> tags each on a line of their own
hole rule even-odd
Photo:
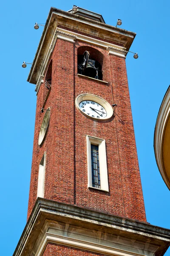
<svg viewBox="0 0 170 256">
<path fill-rule="evenodd" d="M 92 47 L 79 47 L 77 51 L 78 74 L 102 80 L 103 55 Z"/>
</svg>

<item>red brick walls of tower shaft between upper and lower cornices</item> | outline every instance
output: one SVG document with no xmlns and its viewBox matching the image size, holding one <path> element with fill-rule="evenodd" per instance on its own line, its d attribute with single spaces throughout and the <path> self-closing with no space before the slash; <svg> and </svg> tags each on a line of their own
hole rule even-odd
<svg viewBox="0 0 170 256">
<path fill-rule="evenodd" d="M 82 54 L 85 49 L 102 64 L 103 80 L 108 85 L 77 76 L 77 52 Z M 51 92 L 45 104 L 45 109 L 51 108 L 50 122 L 40 146 L 45 84 L 37 94 L 28 217 L 37 199 L 39 164 L 46 151 L 45 198 L 146 221 L 125 59 L 85 42 L 57 39 L 51 60 L 52 72 L 47 70 L 52 76 Z M 117 104 L 115 117 L 93 120 L 75 107 L 75 99 L 82 93 L 96 94 L 112 105 L 111 87 Z M 88 189 L 86 135 L 105 139 L 109 192 Z"/>
</svg>

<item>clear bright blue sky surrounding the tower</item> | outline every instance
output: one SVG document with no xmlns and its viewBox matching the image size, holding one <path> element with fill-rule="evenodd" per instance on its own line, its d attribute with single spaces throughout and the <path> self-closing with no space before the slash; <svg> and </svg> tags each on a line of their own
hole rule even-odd
<svg viewBox="0 0 170 256">
<path fill-rule="evenodd" d="M 136 146 L 147 221 L 170 229 L 170 191 L 161 178 L 153 150 L 153 134 L 161 101 L 170 84 L 170 19 L 168 0 L 4 1 L 1 4 L 1 181 L 0 239 L 2 255 L 11 256 L 26 224 L 36 108 L 35 86 L 26 80 L 50 7 L 68 11 L 75 4 L 102 14 L 106 23 L 136 32 L 128 53 L 130 90 Z M 170 256 L 170 250 L 165 254 Z"/>
</svg>

